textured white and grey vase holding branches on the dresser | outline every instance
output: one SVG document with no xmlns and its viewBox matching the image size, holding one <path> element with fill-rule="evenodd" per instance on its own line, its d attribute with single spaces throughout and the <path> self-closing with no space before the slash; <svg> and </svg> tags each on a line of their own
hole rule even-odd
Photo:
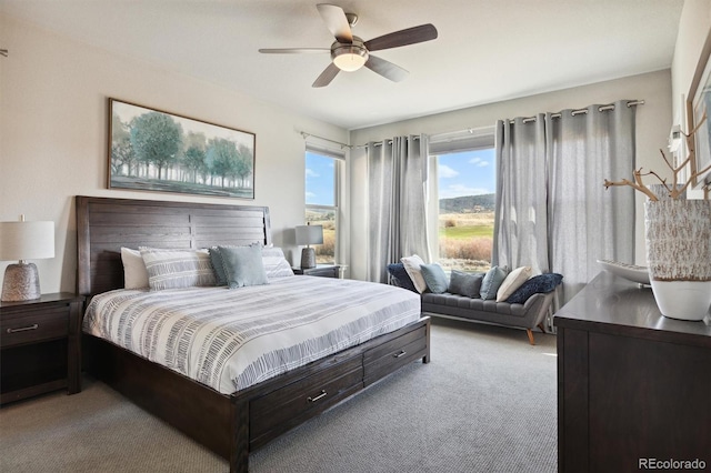
<svg viewBox="0 0 711 473">
<path fill-rule="evenodd" d="M 700 321 L 711 309 L 711 201 L 644 203 L 650 282 L 664 316 Z"/>
</svg>

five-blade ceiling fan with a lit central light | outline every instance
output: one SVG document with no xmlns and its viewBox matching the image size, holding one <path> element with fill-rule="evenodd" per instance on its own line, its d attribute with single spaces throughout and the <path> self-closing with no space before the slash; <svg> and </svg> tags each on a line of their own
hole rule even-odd
<svg viewBox="0 0 711 473">
<path fill-rule="evenodd" d="M 340 71 L 357 71 L 363 66 L 391 81 L 400 82 L 408 76 L 408 71 L 390 61 L 372 56 L 371 52 L 430 41 L 437 38 L 437 28 L 428 23 L 363 41 L 351 32 L 351 27 L 358 22 L 357 14 L 346 13 L 341 7 L 328 3 L 319 3 L 316 8 L 319 10 L 327 28 L 336 37 L 336 41 L 333 41 L 331 48 L 259 50 L 259 52 L 269 54 L 330 52 L 332 62 L 321 72 L 312 87 L 326 87 L 331 83 Z"/>
</svg>

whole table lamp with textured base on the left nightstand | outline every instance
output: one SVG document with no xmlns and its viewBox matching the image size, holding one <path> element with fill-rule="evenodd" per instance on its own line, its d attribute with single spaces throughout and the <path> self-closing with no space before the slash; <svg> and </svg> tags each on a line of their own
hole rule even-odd
<svg viewBox="0 0 711 473">
<path fill-rule="evenodd" d="M 26 260 L 54 258 L 54 222 L 0 222 L 0 261 L 18 260 L 4 270 L 2 302 L 39 299 L 40 276 Z"/>
</svg>

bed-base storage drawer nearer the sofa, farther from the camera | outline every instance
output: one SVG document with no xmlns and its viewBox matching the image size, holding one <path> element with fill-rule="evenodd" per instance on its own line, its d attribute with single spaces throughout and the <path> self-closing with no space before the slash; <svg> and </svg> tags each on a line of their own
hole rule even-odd
<svg viewBox="0 0 711 473">
<path fill-rule="evenodd" d="M 421 326 L 398 336 L 375 349 L 368 350 L 363 358 L 364 385 L 381 379 L 427 354 L 427 328 Z"/>
</svg>

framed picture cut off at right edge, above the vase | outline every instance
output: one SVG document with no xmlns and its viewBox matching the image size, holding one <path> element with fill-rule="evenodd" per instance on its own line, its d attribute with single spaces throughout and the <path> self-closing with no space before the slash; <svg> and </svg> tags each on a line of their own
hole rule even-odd
<svg viewBox="0 0 711 473">
<path fill-rule="evenodd" d="M 699 66 L 691 81 L 687 95 L 687 121 L 689 132 L 701 122 L 704 113 L 707 120 L 690 141 L 689 151 L 692 153 L 691 170 L 697 173 L 711 165 L 711 34 L 707 38 L 701 52 Z M 707 189 L 711 185 L 711 170 L 697 175 L 691 185 L 695 189 Z"/>
</svg>

